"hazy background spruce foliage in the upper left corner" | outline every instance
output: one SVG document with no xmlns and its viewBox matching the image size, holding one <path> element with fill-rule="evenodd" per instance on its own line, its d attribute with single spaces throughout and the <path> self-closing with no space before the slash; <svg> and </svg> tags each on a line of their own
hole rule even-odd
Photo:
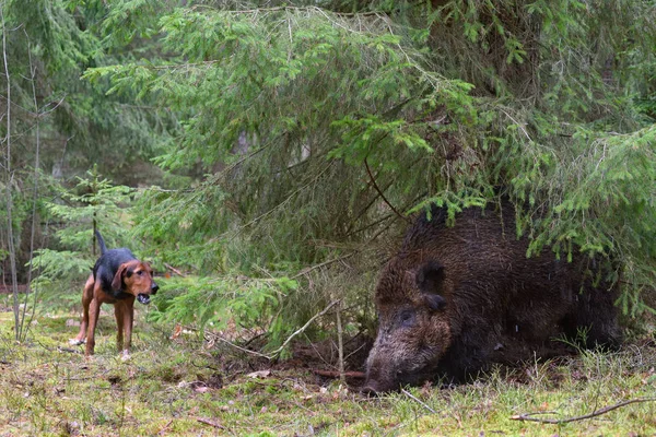
<svg viewBox="0 0 656 437">
<path fill-rule="evenodd" d="M 81 5 L 77 8 L 77 4 Z M 149 54 L 148 44 L 134 43 L 126 54 L 98 28 L 109 20 L 99 1 L 7 0 L 2 2 L 10 71 L 14 166 L 32 165 L 35 143 L 42 165 L 67 178 L 83 176 L 94 164 L 136 184 L 133 166 L 162 144 L 167 117 L 143 106 L 105 96 L 108 84 L 80 81 L 87 68 L 114 64 Z M 117 3 L 116 8 L 119 8 Z M 148 26 L 142 27 L 145 35 Z M 110 32 L 110 31 L 108 31 Z M 7 81 L 0 85 L 4 107 Z M 36 129 L 39 125 L 40 130 Z M 4 137 L 7 123 L 0 123 Z M 147 167 L 151 174 L 157 172 Z M 142 169 L 143 172 L 143 169 Z"/>
</svg>

